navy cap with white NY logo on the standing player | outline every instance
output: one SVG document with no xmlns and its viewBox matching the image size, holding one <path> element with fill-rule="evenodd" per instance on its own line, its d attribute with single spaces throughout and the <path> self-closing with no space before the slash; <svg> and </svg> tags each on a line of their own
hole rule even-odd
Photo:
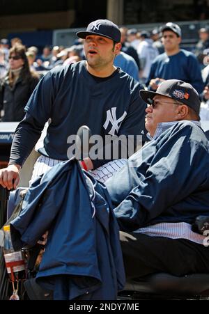
<svg viewBox="0 0 209 314">
<path fill-rule="evenodd" d="M 116 24 L 109 19 L 97 19 L 88 24 L 86 31 L 78 31 L 76 35 L 79 38 L 86 38 L 88 35 L 98 35 L 121 42 L 121 31 Z"/>
</svg>

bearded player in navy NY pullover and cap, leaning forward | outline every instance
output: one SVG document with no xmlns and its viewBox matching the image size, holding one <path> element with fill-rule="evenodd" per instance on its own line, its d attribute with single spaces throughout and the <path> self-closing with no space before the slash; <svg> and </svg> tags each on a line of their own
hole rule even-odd
<svg viewBox="0 0 209 314">
<path fill-rule="evenodd" d="M 15 131 L 8 167 L 0 170 L 3 187 L 17 187 L 20 168 L 49 119 L 51 123 L 36 162 L 42 169 L 70 158 L 68 136 L 76 134 L 81 125 L 87 125 L 93 135 L 99 134 L 102 139 L 107 134 L 146 133 L 146 104 L 139 97 L 141 86 L 113 64 L 121 50 L 118 26 L 107 19 L 98 19 L 77 36 L 84 38 L 86 61 L 55 68 L 39 82 L 26 104 L 26 115 Z M 88 157 L 81 166 L 91 170 L 109 161 Z M 36 175 L 41 172 L 36 171 Z"/>
</svg>

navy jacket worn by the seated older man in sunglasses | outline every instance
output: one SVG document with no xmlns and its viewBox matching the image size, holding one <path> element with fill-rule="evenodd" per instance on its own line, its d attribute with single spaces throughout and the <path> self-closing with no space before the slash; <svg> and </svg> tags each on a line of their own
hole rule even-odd
<svg viewBox="0 0 209 314">
<path fill-rule="evenodd" d="M 180 121 L 136 152 L 105 185 L 120 230 L 194 223 L 208 215 L 209 151 L 201 127 Z"/>
</svg>

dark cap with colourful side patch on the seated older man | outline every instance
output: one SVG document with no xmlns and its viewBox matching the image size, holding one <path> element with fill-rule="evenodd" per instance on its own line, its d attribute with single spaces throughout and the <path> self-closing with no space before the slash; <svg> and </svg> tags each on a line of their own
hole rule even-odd
<svg viewBox="0 0 209 314">
<path fill-rule="evenodd" d="M 167 79 L 167 81 L 162 81 L 156 92 L 141 90 L 139 93 L 147 104 L 153 103 L 153 97 L 155 97 L 155 95 L 167 96 L 186 104 L 199 115 L 201 105 L 199 95 L 196 89 L 194 89 L 191 84 L 185 83 L 185 81 Z"/>
</svg>

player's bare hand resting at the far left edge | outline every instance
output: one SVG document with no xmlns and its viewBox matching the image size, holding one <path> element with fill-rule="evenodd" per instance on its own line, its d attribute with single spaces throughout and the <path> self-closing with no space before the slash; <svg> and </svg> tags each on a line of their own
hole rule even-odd
<svg viewBox="0 0 209 314">
<path fill-rule="evenodd" d="M 0 185 L 8 190 L 17 189 L 20 181 L 20 168 L 19 164 L 10 164 L 7 168 L 0 169 Z"/>
</svg>

